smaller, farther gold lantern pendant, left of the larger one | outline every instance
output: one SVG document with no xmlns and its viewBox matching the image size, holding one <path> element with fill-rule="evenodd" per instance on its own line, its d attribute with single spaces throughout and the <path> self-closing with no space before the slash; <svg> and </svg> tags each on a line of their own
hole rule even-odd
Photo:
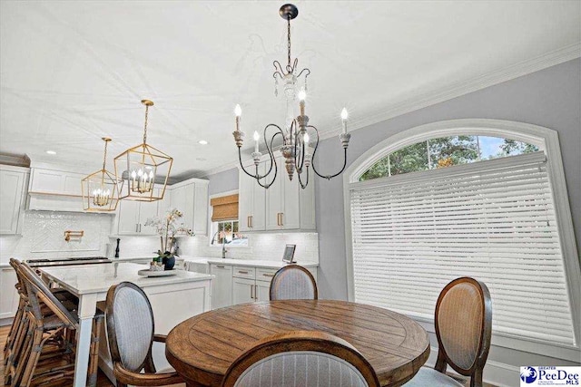
<svg viewBox="0 0 581 387">
<path fill-rule="evenodd" d="M 102 140 L 105 141 L 103 169 L 97 170 L 81 180 L 83 209 L 85 211 L 114 211 L 119 203 L 119 190 L 122 182 L 105 169 L 107 144 L 111 139 L 103 137 Z"/>
</svg>

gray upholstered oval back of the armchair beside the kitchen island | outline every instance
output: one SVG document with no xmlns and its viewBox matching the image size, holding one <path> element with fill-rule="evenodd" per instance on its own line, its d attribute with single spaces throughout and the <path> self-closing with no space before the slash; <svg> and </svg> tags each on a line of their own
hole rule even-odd
<svg viewBox="0 0 581 387">
<path fill-rule="evenodd" d="M 131 372 L 155 372 L 152 360 L 153 311 L 147 295 L 131 282 L 107 291 L 107 337 L 113 364 Z"/>
</svg>

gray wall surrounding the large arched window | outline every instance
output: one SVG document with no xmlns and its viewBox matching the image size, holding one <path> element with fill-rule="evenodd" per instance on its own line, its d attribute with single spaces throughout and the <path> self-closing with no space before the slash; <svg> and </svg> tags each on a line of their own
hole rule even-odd
<svg viewBox="0 0 581 387">
<path fill-rule="evenodd" d="M 521 121 L 558 131 L 571 205 L 577 250 L 581 233 L 581 60 L 562 63 L 537 73 L 499 83 L 478 92 L 412 111 L 351 133 L 349 160 L 381 140 L 434 121 L 484 118 Z M 321 141 L 318 169 L 323 174 L 340 165 L 337 138 Z M 342 179 L 316 179 L 321 298 L 347 299 L 347 259 Z"/>
</svg>

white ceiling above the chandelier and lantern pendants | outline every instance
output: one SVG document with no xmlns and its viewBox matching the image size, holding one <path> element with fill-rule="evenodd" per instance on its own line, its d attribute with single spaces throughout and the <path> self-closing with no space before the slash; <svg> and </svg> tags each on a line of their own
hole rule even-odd
<svg viewBox="0 0 581 387">
<path fill-rule="evenodd" d="M 309 67 L 307 114 L 350 127 L 581 41 L 578 1 L 297 1 L 293 56 Z M 283 123 L 272 61 L 285 63 L 282 2 L 0 3 L 0 153 L 94 165 L 141 142 L 172 155 L 172 177 L 237 160 L 243 130 Z M 209 145 L 200 145 L 207 140 Z M 246 149 L 252 141 L 247 141 Z M 338 142 L 339 146 L 339 142 Z"/>
</svg>

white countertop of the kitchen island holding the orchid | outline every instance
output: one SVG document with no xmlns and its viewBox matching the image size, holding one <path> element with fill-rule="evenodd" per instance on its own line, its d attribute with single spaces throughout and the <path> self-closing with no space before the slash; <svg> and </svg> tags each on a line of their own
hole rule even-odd
<svg viewBox="0 0 581 387">
<path fill-rule="evenodd" d="M 111 265 L 95 264 L 80 266 L 39 267 L 44 275 L 63 285 L 76 295 L 106 292 L 112 285 L 123 281 L 133 282 L 140 287 L 171 285 L 184 282 L 212 279 L 214 276 L 175 270 L 175 276 L 146 277 L 137 271 L 143 265 L 117 262 Z"/>
</svg>

